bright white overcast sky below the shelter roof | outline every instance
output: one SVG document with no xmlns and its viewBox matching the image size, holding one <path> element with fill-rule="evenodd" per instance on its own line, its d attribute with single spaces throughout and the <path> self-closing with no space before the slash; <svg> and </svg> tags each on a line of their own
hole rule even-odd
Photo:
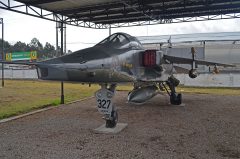
<svg viewBox="0 0 240 159">
<path fill-rule="evenodd" d="M 30 43 L 31 39 L 36 37 L 43 45 L 46 42 L 56 45 L 55 22 L 3 9 L 0 9 L 0 18 L 4 19 L 4 39 L 11 44 L 17 41 Z M 125 32 L 132 36 L 235 31 L 240 31 L 240 19 L 160 24 L 111 30 L 112 33 Z M 108 35 L 108 29 L 89 29 L 67 25 L 67 50 L 76 51 L 93 46 Z"/>
</svg>

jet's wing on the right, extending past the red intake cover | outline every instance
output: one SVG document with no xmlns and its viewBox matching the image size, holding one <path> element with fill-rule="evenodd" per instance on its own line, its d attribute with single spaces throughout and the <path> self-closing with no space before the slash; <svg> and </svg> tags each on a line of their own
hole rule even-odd
<svg viewBox="0 0 240 159">
<path fill-rule="evenodd" d="M 190 59 L 190 58 L 176 57 L 176 56 L 170 56 L 170 55 L 163 55 L 163 58 L 169 61 L 170 63 L 176 63 L 176 64 L 192 64 L 193 63 L 193 59 Z M 235 67 L 235 65 L 218 63 L 213 61 L 198 60 L 198 59 L 194 59 L 194 61 L 197 65 L 206 65 L 206 66 L 217 65 L 217 66 L 224 66 L 224 67 Z"/>
</svg>

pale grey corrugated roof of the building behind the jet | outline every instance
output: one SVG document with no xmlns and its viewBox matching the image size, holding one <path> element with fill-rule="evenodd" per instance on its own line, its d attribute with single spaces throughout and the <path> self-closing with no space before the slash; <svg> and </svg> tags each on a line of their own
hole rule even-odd
<svg viewBox="0 0 240 159">
<path fill-rule="evenodd" d="M 170 37 L 172 43 L 187 43 L 202 41 L 240 41 L 240 32 L 156 35 L 156 36 L 139 36 L 137 38 L 142 44 L 160 44 L 167 43 Z"/>
</svg>

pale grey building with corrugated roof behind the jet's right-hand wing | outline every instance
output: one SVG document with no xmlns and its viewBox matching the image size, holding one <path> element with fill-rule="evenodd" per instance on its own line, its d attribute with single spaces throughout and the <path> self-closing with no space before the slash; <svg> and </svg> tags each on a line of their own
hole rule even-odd
<svg viewBox="0 0 240 159">
<path fill-rule="evenodd" d="M 240 87 L 240 32 L 141 36 L 138 39 L 146 49 L 165 52 L 168 41 L 171 41 L 172 48 L 167 50 L 167 54 L 191 58 L 191 47 L 195 47 L 198 59 L 236 65 L 219 67 L 220 74 L 213 74 L 213 68 L 200 66 L 198 70 L 201 74 L 196 79 L 189 78 L 187 74 L 177 74 L 183 85 Z"/>
</svg>

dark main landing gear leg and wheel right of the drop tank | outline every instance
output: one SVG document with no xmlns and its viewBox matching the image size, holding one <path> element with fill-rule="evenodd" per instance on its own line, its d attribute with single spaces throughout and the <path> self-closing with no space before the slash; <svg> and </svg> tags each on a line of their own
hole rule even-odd
<svg viewBox="0 0 240 159">
<path fill-rule="evenodd" d="M 182 94 L 176 93 L 175 87 L 178 86 L 180 81 L 173 76 L 170 76 L 166 82 L 170 91 L 167 87 L 162 83 L 163 87 L 167 91 L 168 95 L 170 96 L 170 103 L 172 105 L 180 105 L 182 104 Z"/>
</svg>

